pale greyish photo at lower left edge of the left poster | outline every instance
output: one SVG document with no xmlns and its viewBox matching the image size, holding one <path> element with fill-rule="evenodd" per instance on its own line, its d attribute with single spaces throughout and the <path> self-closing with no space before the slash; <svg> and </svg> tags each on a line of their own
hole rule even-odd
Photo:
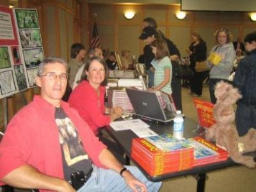
<svg viewBox="0 0 256 192">
<path fill-rule="evenodd" d="M 0 89 L 2 95 L 16 91 L 12 70 L 0 72 Z"/>
</svg>

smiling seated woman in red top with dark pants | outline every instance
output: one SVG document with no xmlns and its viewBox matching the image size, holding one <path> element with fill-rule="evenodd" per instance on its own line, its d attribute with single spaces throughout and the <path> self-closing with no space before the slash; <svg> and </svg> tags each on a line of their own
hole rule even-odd
<svg viewBox="0 0 256 192">
<path fill-rule="evenodd" d="M 115 157 L 125 163 L 124 151 L 116 143 L 104 138 L 100 127 L 105 127 L 122 116 L 120 107 L 106 108 L 105 93 L 108 81 L 108 67 L 105 61 L 99 57 L 93 57 L 86 61 L 81 83 L 73 90 L 68 103 L 76 109 L 79 115 L 90 126 L 100 141 L 106 144 Z"/>
</svg>

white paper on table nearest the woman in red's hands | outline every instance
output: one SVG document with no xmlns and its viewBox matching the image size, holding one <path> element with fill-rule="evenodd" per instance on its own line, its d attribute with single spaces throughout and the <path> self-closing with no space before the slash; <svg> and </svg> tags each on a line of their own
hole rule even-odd
<svg viewBox="0 0 256 192">
<path fill-rule="evenodd" d="M 122 121 L 116 121 L 112 122 L 110 126 L 115 130 L 115 131 L 122 131 L 126 129 L 131 129 L 132 127 L 149 127 L 148 124 L 143 122 L 140 119 L 132 119 L 132 120 L 122 120 Z"/>
</svg>

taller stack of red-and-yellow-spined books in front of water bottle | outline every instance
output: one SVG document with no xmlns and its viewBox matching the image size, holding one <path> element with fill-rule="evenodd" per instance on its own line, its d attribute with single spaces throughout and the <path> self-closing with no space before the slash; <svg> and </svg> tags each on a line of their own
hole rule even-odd
<svg viewBox="0 0 256 192">
<path fill-rule="evenodd" d="M 192 168 L 193 153 L 193 147 L 170 134 L 132 140 L 132 159 L 152 177 Z"/>
</svg>

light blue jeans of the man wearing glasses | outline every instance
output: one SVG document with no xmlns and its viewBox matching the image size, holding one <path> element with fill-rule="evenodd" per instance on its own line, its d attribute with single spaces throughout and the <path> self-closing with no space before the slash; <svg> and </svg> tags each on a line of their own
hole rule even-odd
<svg viewBox="0 0 256 192">
<path fill-rule="evenodd" d="M 147 178 L 136 168 L 136 166 L 125 166 L 137 179 L 147 186 L 148 191 L 159 191 L 162 182 L 150 182 Z M 120 174 L 112 170 L 105 170 L 93 166 L 93 172 L 90 179 L 82 186 L 78 192 L 92 191 L 92 192 L 119 192 L 132 191 L 125 183 L 125 179 Z"/>
</svg>

